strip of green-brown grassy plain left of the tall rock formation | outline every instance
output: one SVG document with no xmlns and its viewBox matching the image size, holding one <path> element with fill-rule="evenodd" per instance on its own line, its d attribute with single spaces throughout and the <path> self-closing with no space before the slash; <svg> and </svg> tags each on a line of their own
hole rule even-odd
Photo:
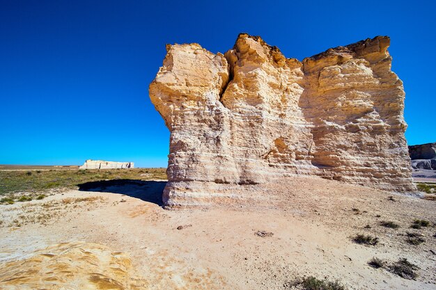
<svg viewBox="0 0 436 290">
<path fill-rule="evenodd" d="M 54 188 L 75 189 L 78 184 L 106 179 L 164 180 L 166 179 L 165 170 L 165 168 L 4 170 L 0 171 L 0 195 L 22 192 L 44 193 Z M 38 172 L 38 174 L 33 174 L 33 172 Z"/>
</svg>

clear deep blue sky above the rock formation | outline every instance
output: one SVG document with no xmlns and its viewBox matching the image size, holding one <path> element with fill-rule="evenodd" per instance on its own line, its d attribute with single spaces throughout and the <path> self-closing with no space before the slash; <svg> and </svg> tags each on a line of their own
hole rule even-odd
<svg viewBox="0 0 436 290">
<path fill-rule="evenodd" d="M 0 0 L 0 164 L 166 166 L 148 98 L 166 43 L 260 35 L 287 57 L 389 35 L 410 145 L 436 142 L 434 1 Z"/>
</svg>

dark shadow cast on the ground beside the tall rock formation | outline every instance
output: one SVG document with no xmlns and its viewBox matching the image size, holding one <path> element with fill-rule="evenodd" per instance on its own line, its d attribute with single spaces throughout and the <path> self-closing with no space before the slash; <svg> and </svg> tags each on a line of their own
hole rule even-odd
<svg viewBox="0 0 436 290">
<path fill-rule="evenodd" d="M 77 184 L 79 191 L 119 193 L 132 198 L 139 198 L 146 202 L 153 202 L 159 205 L 159 207 L 163 206 L 162 192 L 165 185 L 166 181 L 139 179 L 111 179 Z"/>
</svg>

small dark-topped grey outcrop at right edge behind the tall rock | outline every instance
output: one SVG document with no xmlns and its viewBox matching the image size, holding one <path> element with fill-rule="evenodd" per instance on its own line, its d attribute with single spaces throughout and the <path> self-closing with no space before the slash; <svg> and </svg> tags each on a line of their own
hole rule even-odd
<svg viewBox="0 0 436 290">
<path fill-rule="evenodd" d="M 409 146 L 409 155 L 414 169 L 436 169 L 436 143 Z"/>
</svg>

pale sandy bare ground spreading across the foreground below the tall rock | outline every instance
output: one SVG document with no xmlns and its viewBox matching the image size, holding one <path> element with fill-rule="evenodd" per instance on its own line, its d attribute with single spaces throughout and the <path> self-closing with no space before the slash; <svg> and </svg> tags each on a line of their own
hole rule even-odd
<svg viewBox="0 0 436 290">
<path fill-rule="evenodd" d="M 123 268 L 124 260 L 119 267 L 125 269 L 121 276 L 128 272 L 132 278 L 118 284 L 104 278 L 105 284 L 99 280 L 81 289 L 290 289 L 286 282 L 307 275 L 340 280 L 348 289 L 436 289 L 436 227 L 409 228 L 415 218 L 436 222 L 435 201 L 295 177 L 265 188 L 270 194 L 266 204 L 241 201 L 226 209 L 168 211 L 155 203 L 162 186 L 163 182 L 152 182 L 143 188 L 107 188 L 108 192 L 68 191 L 44 200 L 0 205 L 0 289 L 34 289 L 38 279 L 40 289 L 77 289 L 77 275 L 86 280 L 91 275 L 86 271 L 92 272 L 95 282 L 96 268 L 103 267 L 95 255 L 130 256 L 132 269 Z M 381 227 L 381 220 L 394 221 L 400 228 Z M 185 227 L 177 229 L 180 225 Z M 260 237 L 255 234 L 259 230 L 274 235 Z M 410 245 L 405 232 L 419 232 L 426 242 Z M 350 236 L 357 233 L 377 236 L 380 243 L 353 243 Z M 87 244 L 78 241 L 103 248 L 97 254 L 84 250 Z M 66 242 L 79 254 L 65 250 L 70 244 L 44 250 Z M 44 258 L 29 261 L 36 250 Z M 62 260 L 47 271 L 56 255 L 63 255 Z M 105 263 L 109 256 L 104 256 Z M 70 287 L 50 284 L 71 273 L 59 270 L 59 265 L 72 263 L 75 257 L 82 264 L 89 259 L 93 268 L 76 269 Z M 406 280 L 371 268 L 367 262 L 373 257 L 389 262 L 407 258 L 420 267 L 419 277 Z M 118 269 L 114 262 L 109 264 Z M 26 271 L 20 271 L 24 266 Z M 112 272 L 104 273 L 118 275 Z M 56 278 L 41 278 L 54 273 Z M 68 286 L 69 280 L 65 281 Z"/>
</svg>

